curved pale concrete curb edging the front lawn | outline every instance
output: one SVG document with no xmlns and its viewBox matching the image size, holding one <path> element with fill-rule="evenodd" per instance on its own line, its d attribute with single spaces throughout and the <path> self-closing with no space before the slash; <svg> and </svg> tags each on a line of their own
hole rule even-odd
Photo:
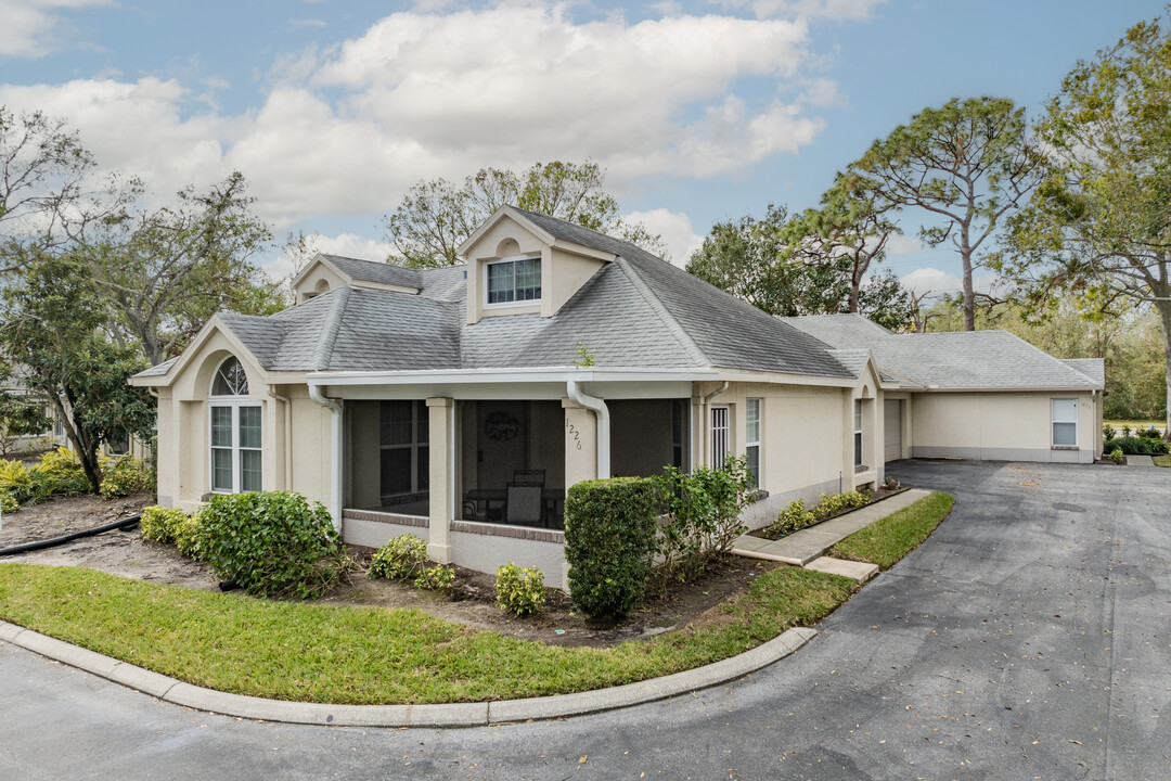
<svg viewBox="0 0 1171 781">
<path fill-rule="evenodd" d="M 2 642 L 145 692 L 172 705 L 245 719 L 340 727 L 471 727 L 612 711 L 742 678 L 783 659 L 816 636 L 817 630 L 797 626 L 723 662 L 663 678 L 577 694 L 448 705 L 326 705 L 269 700 L 192 686 L 0 621 Z"/>
</svg>

